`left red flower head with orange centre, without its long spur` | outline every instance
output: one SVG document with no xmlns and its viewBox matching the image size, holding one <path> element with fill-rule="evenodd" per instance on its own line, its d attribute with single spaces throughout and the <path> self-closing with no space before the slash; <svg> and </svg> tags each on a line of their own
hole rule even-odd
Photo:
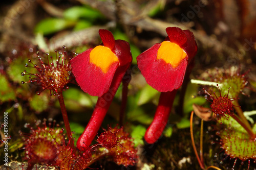
<svg viewBox="0 0 256 170">
<path fill-rule="evenodd" d="M 108 30 L 99 30 L 102 45 L 89 48 L 71 60 L 73 74 L 84 92 L 94 96 L 106 93 L 118 67 L 132 62 L 130 45 L 115 40 Z"/>
</svg>

